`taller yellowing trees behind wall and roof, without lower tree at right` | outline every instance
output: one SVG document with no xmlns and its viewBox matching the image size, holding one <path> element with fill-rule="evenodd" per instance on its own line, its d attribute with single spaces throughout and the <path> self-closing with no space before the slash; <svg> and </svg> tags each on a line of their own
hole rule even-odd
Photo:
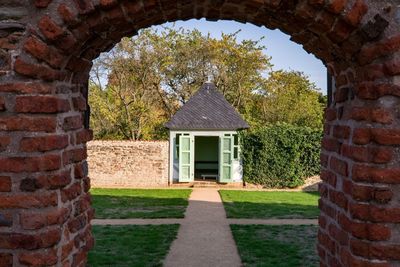
<svg viewBox="0 0 400 267">
<path fill-rule="evenodd" d="M 163 124 L 209 78 L 246 114 L 252 91 L 271 64 L 257 41 L 236 38 L 164 28 L 123 39 L 92 69 L 89 102 L 95 138 L 166 139 Z"/>
</svg>

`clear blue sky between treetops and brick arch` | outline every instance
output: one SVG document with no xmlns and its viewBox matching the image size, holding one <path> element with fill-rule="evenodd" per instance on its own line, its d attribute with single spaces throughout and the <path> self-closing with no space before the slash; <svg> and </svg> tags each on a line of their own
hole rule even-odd
<svg viewBox="0 0 400 267">
<path fill-rule="evenodd" d="M 163 24 L 172 26 L 172 23 Z M 326 94 L 326 68 L 322 62 L 308 54 L 301 45 L 290 41 L 290 37 L 279 30 L 270 30 L 265 27 L 258 27 L 253 24 L 243 24 L 235 21 L 217 21 L 211 22 L 205 19 L 188 20 L 175 22 L 176 27 L 184 29 L 198 29 L 204 34 L 210 33 L 212 37 L 219 38 L 221 33 L 234 33 L 238 30 L 238 40 L 252 39 L 259 40 L 261 37 L 261 45 L 267 49 L 265 53 L 272 57 L 274 70 L 296 70 L 302 71 L 310 77 L 318 88 Z M 160 26 L 156 26 L 158 28 Z"/>
</svg>

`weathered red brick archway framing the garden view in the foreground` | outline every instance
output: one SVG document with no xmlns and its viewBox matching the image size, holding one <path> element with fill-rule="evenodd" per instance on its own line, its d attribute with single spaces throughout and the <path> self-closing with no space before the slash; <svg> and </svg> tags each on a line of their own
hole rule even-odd
<svg viewBox="0 0 400 267">
<path fill-rule="evenodd" d="M 321 266 L 400 264 L 397 0 L 21 0 L 0 16 L 0 265 L 82 266 L 93 245 L 85 129 L 91 61 L 166 21 L 278 28 L 335 77 Z"/>
</svg>

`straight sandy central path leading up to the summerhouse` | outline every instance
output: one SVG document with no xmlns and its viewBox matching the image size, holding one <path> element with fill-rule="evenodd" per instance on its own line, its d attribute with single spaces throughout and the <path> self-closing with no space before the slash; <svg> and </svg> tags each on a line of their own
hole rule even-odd
<svg viewBox="0 0 400 267">
<path fill-rule="evenodd" d="M 217 189 L 194 189 L 166 267 L 241 266 Z"/>
</svg>

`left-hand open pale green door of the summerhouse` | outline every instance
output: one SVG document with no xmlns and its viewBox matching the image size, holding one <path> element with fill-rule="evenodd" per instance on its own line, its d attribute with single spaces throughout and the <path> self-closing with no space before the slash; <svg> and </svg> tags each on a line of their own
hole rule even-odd
<svg viewBox="0 0 400 267">
<path fill-rule="evenodd" d="M 193 138 L 188 134 L 179 136 L 179 182 L 194 180 Z"/>
</svg>

